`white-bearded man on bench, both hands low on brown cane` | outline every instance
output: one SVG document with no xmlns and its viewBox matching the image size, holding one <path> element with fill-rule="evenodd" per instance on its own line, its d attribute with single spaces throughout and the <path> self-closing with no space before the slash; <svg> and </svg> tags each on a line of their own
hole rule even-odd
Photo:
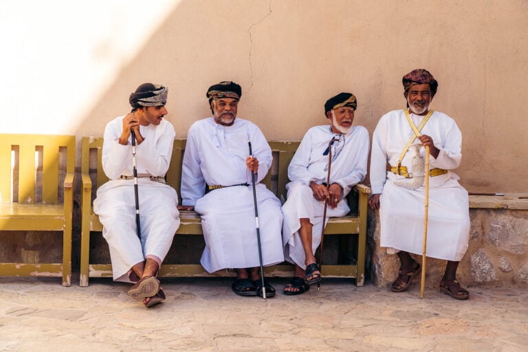
<svg viewBox="0 0 528 352">
<path fill-rule="evenodd" d="M 286 185 L 283 205 L 283 243 L 285 259 L 295 265 L 292 280 L 284 288 L 286 295 L 303 294 L 309 285 L 321 280 L 314 252 L 321 242 L 322 215 L 328 201 L 327 217 L 349 213 L 347 195 L 366 175 L 369 158 L 369 133 L 353 126 L 358 102 L 353 94 L 340 93 L 327 100 L 325 115 L 331 126 L 309 129 L 288 167 L 291 180 Z M 330 184 L 329 142 L 331 148 Z M 327 220 L 327 219 L 326 219 Z"/>
</svg>

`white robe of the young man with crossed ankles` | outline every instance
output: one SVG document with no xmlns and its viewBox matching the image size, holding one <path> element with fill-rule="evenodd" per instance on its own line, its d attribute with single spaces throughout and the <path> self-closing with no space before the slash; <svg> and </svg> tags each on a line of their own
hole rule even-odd
<svg viewBox="0 0 528 352">
<path fill-rule="evenodd" d="M 133 175 L 131 139 L 126 146 L 119 144 L 122 119 L 115 118 L 104 129 L 102 168 L 110 180 L 98 188 L 94 212 L 110 248 L 114 280 L 131 282 L 129 270 L 146 256 L 163 261 L 179 228 L 179 212 L 177 192 L 172 187 L 138 179 L 141 241 L 137 237 L 134 181 L 119 179 L 120 175 Z M 163 177 L 173 151 L 173 125 L 162 120 L 157 126 L 140 126 L 140 133 L 144 140 L 135 146 L 137 173 Z"/>
</svg>

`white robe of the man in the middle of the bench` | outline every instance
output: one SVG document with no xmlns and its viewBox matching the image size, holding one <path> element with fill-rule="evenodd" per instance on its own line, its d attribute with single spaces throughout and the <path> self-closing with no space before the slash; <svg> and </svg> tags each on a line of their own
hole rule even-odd
<svg viewBox="0 0 528 352">
<path fill-rule="evenodd" d="M 284 261 L 281 201 L 259 184 L 272 165 L 272 151 L 261 130 L 252 122 L 236 118 L 232 126 L 222 126 L 213 118 L 190 126 L 181 173 L 181 203 L 195 206 L 201 214 L 206 248 L 201 265 L 208 272 L 224 268 L 259 266 L 259 248 L 251 172 L 245 165 L 250 155 L 259 159 L 255 175 L 256 199 L 263 265 Z M 234 184 L 250 186 L 232 186 Z M 232 186 L 203 195 L 206 184 Z"/>
</svg>

